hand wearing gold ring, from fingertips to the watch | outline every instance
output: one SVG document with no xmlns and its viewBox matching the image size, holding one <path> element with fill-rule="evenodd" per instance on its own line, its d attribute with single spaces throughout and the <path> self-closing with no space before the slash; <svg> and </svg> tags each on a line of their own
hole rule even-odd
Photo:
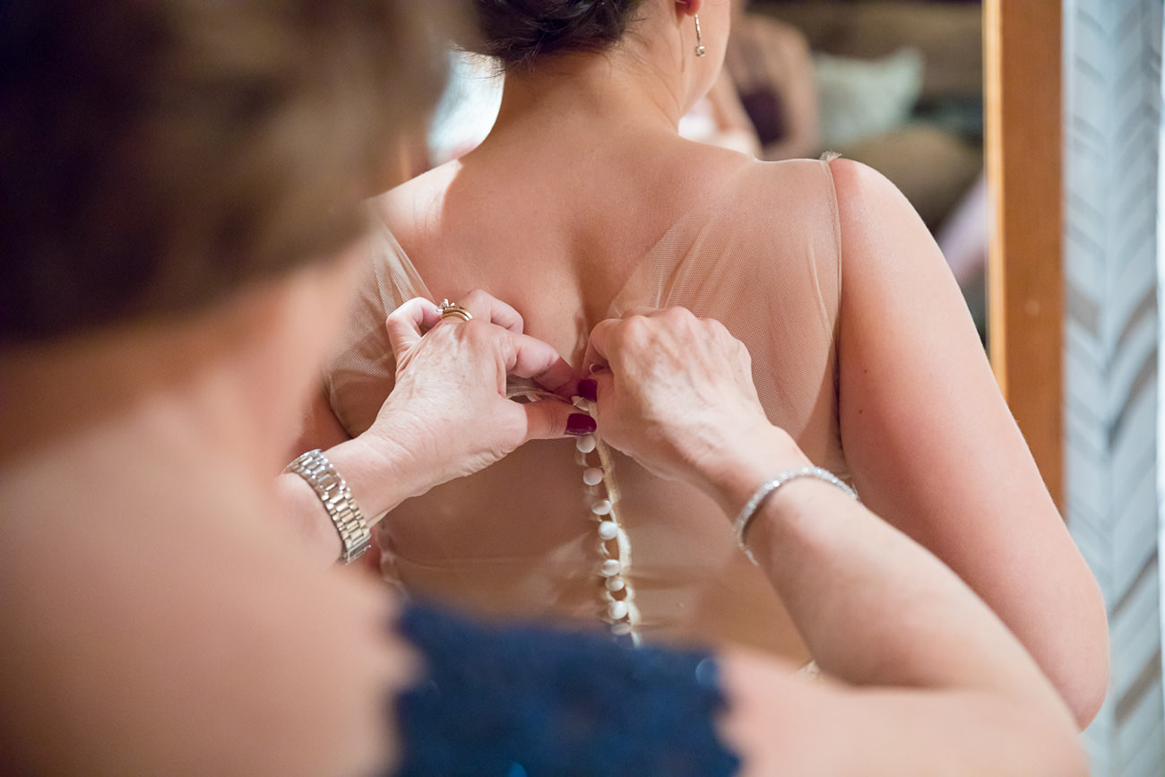
<svg viewBox="0 0 1165 777">
<path fill-rule="evenodd" d="M 443 320 L 432 302 L 416 298 L 387 322 L 396 386 L 362 437 L 408 457 L 423 481 L 415 493 L 482 469 L 527 440 L 594 431 L 570 404 L 579 375 L 550 345 L 522 333 L 517 311 L 485 291 L 460 305 L 473 320 Z M 532 379 L 557 398 L 507 400 L 507 375 Z"/>
</svg>

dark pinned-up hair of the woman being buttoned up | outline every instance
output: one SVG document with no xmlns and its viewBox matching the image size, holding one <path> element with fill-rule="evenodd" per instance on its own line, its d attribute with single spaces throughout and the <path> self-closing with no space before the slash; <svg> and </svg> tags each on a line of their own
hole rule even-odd
<svg viewBox="0 0 1165 777">
<path fill-rule="evenodd" d="M 623 37 L 643 0 L 473 0 L 479 40 L 469 51 L 506 70 L 578 51 L 603 51 Z"/>
</svg>

